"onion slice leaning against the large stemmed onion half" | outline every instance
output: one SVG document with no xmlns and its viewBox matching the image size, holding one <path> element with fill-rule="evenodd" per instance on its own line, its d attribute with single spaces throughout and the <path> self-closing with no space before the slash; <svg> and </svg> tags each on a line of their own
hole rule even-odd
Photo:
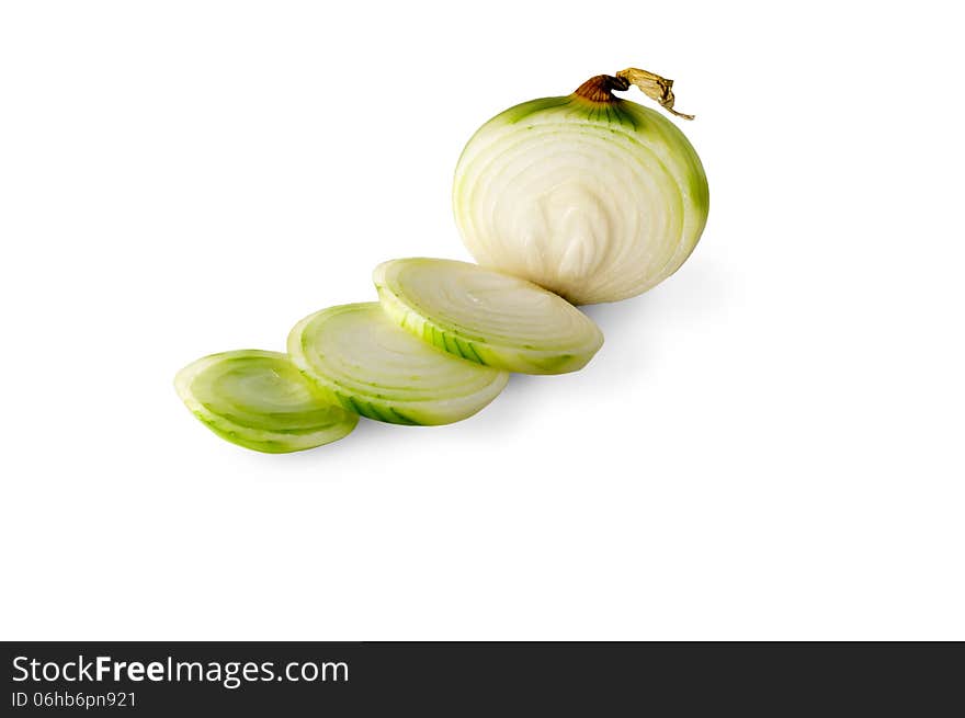
<svg viewBox="0 0 965 718">
<path fill-rule="evenodd" d="M 597 324 L 542 287 L 476 264 L 402 259 L 373 273 L 395 322 L 451 354 L 509 372 L 564 374 L 603 344 Z"/>
</svg>

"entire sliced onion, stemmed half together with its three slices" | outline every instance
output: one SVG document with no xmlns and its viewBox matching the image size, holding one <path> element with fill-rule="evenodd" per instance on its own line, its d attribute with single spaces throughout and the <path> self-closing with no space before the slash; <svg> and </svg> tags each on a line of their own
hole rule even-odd
<svg viewBox="0 0 965 718">
<path fill-rule="evenodd" d="M 456 168 L 453 205 L 480 266 L 379 264 L 379 301 L 317 311 L 287 354 L 241 350 L 178 373 L 189 409 L 260 452 L 338 441 L 359 417 L 434 425 L 467 419 L 509 372 L 576 372 L 603 334 L 576 304 L 615 301 L 670 276 L 707 221 L 693 147 L 659 113 L 613 96 L 636 86 L 673 110 L 672 82 L 645 70 L 587 80 L 483 125 Z"/>
</svg>

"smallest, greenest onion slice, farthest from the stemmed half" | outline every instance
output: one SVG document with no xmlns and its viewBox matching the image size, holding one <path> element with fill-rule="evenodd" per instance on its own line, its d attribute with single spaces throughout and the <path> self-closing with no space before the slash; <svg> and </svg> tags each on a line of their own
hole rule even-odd
<svg viewBox="0 0 965 718">
<path fill-rule="evenodd" d="M 322 399 L 286 354 L 240 350 L 189 364 L 178 395 L 215 434 L 269 454 L 299 452 L 349 434 L 359 417 Z"/>
</svg>

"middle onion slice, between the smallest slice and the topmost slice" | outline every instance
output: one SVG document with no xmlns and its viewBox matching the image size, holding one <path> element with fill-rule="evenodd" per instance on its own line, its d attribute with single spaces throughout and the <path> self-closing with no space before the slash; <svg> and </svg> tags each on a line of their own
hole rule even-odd
<svg viewBox="0 0 965 718">
<path fill-rule="evenodd" d="M 288 353 L 328 399 L 393 424 L 466 419 L 492 401 L 509 378 L 417 339 L 375 301 L 306 317 L 288 334 Z"/>
</svg>

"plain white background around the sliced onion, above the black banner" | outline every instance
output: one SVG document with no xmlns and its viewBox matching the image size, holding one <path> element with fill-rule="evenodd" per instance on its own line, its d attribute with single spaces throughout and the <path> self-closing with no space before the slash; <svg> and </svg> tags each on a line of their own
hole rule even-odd
<svg viewBox="0 0 965 718">
<path fill-rule="evenodd" d="M 3 3 L 0 636 L 965 639 L 943 5 Z M 288 456 L 180 403 L 379 261 L 468 259 L 476 127 L 631 65 L 711 219 L 587 369 Z"/>
</svg>

